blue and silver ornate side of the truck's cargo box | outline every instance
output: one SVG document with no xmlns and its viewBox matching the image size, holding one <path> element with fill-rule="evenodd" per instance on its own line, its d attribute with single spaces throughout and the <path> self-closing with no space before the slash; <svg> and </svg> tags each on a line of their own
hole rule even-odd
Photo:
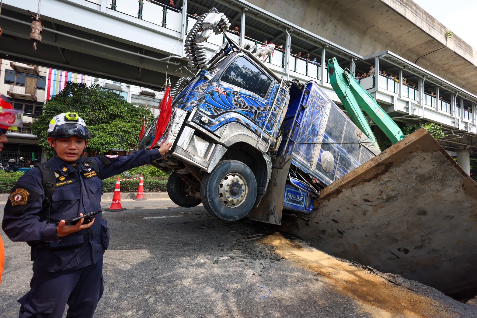
<svg viewBox="0 0 477 318">
<path fill-rule="evenodd" d="M 298 112 L 289 143 L 292 163 L 308 174 L 313 182 L 319 182 L 321 186 L 331 185 L 374 154 L 363 146 L 363 133 L 318 83 L 306 83 L 304 92 L 300 92 L 298 103 L 302 107 L 298 110 L 289 107 L 286 116 L 288 119 Z"/>
</svg>

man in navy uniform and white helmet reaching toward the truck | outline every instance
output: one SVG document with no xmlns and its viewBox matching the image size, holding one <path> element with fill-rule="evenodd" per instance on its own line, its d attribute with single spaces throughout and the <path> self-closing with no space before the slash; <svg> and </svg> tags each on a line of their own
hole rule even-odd
<svg viewBox="0 0 477 318">
<path fill-rule="evenodd" d="M 83 224 L 83 218 L 74 225 L 65 219 L 99 211 L 102 179 L 156 160 L 171 146 L 166 143 L 126 156 L 82 158 L 90 137 L 76 113 L 53 117 L 48 143 L 55 156 L 47 164 L 54 171 L 55 188 L 49 213 L 42 209 L 46 191 L 39 167 L 18 180 L 5 206 L 3 230 L 12 241 L 31 245 L 33 277 L 30 291 L 18 300 L 20 318 L 61 318 L 66 304 L 66 317 L 93 317 L 103 295 L 109 229 L 102 213 L 88 224 Z"/>
</svg>

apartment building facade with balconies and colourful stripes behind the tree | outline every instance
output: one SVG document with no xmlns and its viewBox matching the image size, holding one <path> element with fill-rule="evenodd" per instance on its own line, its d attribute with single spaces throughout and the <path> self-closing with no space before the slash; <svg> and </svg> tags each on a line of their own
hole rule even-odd
<svg viewBox="0 0 477 318">
<path fill-rule="evenodd" d="M 15 159 L 25 167 L 44 160 L 44 152 L 38 145 L 38 138 L 32 134 L 30 125 L 41 115 L 44 102 L 60 92 L 68 81 L 82 82 L 86 85 L 98 84 L 123 96 L 128 103 L 150 108 L 153 115 L 158 114 L 158 105 L 164 95 L 163 92 L 76 72 L 8 60 L 0 61 L 0 93 L 10 99 L 15 109 L 24 111 L 23 127 L 16 132 L 7 133 L 9 143 L 4 145 L 0 153 L 0 164 L 3 166 L 7 165 L 9 159 Z M 126 153 L 129 153 L 129 150 L 119 149 L 111 152 L 111 154 Z M 21 161 L 20 158 L 24 160 Z"/>
</svg>

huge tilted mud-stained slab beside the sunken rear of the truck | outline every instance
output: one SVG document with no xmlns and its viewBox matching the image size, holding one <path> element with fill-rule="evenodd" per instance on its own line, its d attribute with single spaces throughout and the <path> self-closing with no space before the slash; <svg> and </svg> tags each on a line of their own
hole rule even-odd
<svg viewBox="0 0 477 318">
<path fill-rule="evenodd" d="M 324 188 L 320 200 L 316 217 L 284 219 L 281 230 L 448 296 L 477 293 L 477 184 L 424 129 Z"/>
</svg>

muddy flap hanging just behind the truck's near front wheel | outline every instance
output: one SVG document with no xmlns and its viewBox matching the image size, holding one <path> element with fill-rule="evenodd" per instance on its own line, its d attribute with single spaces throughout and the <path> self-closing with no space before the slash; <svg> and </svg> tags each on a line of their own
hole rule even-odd
<svg viewBox="0 0 477 318">
<path fill-rule="evenodd" d="M 281 223 L 285 183 L 291 166 L 291 155 L 285 158 L 277 156 L 273 161 L 267 193 L 261 198 L 259 205 L 247 215 L 249 219 L 271 224 Z"/>
</svg>

